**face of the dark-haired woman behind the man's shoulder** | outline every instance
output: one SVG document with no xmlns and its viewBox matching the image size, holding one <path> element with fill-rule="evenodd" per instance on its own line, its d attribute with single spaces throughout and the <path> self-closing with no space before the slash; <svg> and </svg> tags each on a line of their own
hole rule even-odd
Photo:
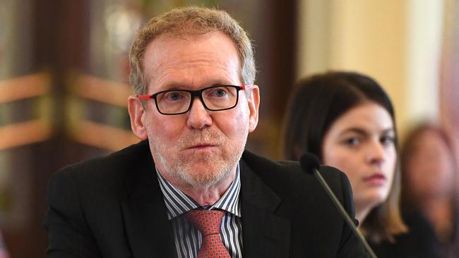
<svg viewBox="0 0 459 258">
<path fill-rule="evenodd" d="M 357 216 L 386 200 L 397 159 L 394 125 L 386 109 L 365 102 L 342 114 L 327 131 L 322 152 L 323 164 L 349 178 Z"/>
</svg>

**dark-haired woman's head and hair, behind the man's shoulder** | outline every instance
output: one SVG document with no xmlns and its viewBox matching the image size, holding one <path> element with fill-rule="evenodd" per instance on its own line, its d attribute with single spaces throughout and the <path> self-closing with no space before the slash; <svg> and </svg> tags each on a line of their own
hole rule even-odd
<svg viewBox="0 0 459 258">
<path fill-rule="evenodd" d="M 344 71 L 301 80 L 284 131 L 285 159 L 311 152 L 346 173 L 359 231 L 370 243 L 393 242 L 407 231 L 400 216 L 394 111 L 378 82 Z"/>
</svg>

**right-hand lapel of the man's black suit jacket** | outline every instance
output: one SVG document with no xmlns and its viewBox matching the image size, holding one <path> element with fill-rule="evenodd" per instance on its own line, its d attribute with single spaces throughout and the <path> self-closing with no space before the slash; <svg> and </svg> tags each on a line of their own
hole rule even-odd
<svg viewBox="0 0 459 258">
<path fill-rule="evenodd" d="M 240 164 L 243 257 L 288 257 L 290 221 L 275 214 L 280 197 L 243 160 Z"/>
</svg>

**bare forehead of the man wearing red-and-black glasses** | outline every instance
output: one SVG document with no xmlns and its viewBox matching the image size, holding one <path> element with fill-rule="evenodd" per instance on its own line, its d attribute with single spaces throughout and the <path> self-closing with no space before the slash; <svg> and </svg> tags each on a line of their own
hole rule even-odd
<svg viewBox="0 0 459 258">
<path fill-rule="evenodd" d="M 232 80 L 221 78 L 225 77 L 225 73 L 237 73 L 237 79 L 241 77 L 237 47 L 222 32 L 209 32 L 204 35 L 188 35 L 187 37 L 162 35 L 148 45 L 143 65 L 149 84 L 151 80 L 160 82 L 164 77 L 171 79 L 177 73 L 186 73 L 186 71 L 196 73 L 198 68 L 201 68 L 206 75 L 215 75 L 210 76 L 215 80 L 226 81 L 226 83 Z M 195 74 L 193 77 L 198 79 L 203 78 L 203 75 Z M 205 82 L 205 84 L 208 83 Z"/>
</svg>

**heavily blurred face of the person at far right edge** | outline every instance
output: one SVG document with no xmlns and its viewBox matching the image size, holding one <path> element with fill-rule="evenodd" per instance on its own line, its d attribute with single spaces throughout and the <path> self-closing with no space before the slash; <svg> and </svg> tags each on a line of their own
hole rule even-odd
<svg viewBox="0 0 459 258">
<path fill-rule="evenodd" d="M 453 192 L 454 164 L 448 145 L 434 130 L 420 133 L 407 157 L 407 185 L 417 199 L 444 197 Z"/>
</svg>

